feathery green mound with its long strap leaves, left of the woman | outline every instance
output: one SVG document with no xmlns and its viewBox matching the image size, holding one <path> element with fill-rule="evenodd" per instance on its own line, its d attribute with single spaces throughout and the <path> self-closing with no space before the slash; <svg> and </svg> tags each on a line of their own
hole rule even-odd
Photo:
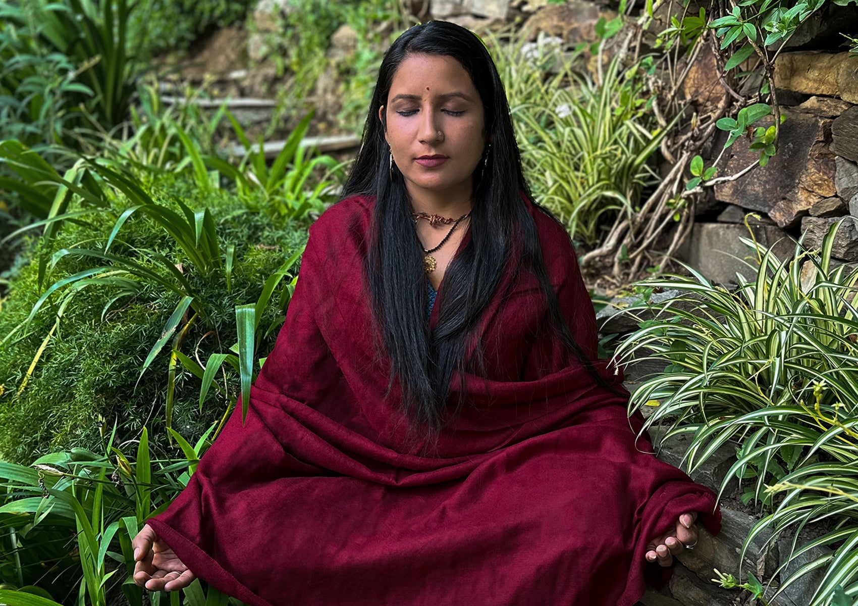
<svg viewBox="0 0 858 606">
<path fill-rule="evenodd" d="M 290 293 L 281 281 L 294 271 L 305 224 L 271 221 L 236 195 L 206 194 L 182 175 L 161 175 L 152 188 L 133 180 L 100 185 L 111 191 L 109 209 L 77 215 L 86 222 L 69 221 L 31 246 L 35 258 L 49 260 L 42 280 L 56 288 L 44 296 L 39 264 L 9 282 L 0 312 L 0 400 L 15 405 L 0 406 L 0 456 L 20 462 L 33 452 L 92 445 L 97 413 L 122 411 L 121 431 L 138 431 L 154 403 L 163 411 L 156 421 L 172 427 L 220 419 L 238 397 L 239 370 L 220 369 L 217 387 L 201 398 L 201 378 L 185 372 L 190 365 L 172 350 L 202 368 L 211 355 L 231 354 L 228 346 L 239 341 L 234 310 L 247 302 L 264 301 L 254 318 L 257 351 L 270 347 L 282 321 Z M 150 209 L 136 208 L 122 187 L 148 192 Z M 220 257 L 210 244 L 193 255 L 184 247 L 210 242 L 207 223 Z M 148 378 L 138 383 L 142 370 Z M 215 408 L 200 416 L 197 403 L 211 403 L 215 393 Z"/>
</svg>

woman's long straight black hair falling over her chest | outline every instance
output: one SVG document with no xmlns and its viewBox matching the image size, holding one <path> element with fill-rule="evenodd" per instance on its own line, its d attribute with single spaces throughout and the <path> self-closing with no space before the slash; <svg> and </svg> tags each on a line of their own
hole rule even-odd
<svg viewBox="0 0 858 606">
<path fill-rule="evenodd" d="M 426 322 L 426 274 L 420 239 L 411 219 L 411 204 L 402 173 L 389 169 L 390 148 L 384 139 L 384 124 L 378 110 L 387 105 L 390 84 L 402 61 L 414 54 L 455 58 L 468 72 L 482 100 L 485 151 L 474 174 L 474 208 L 471 239 L 444 273 L 444 293 L 439 300 L 438 323 L 430 330 Z M 398 377 L 402 407 L 414 426 L 426 427 L 437 437 L 444 424 L 462 406 L 462 397 L 449 406 L 450 379 L 454 371 L 480 372 L 479 343 L 470 361 L 465 353 L 468 340 L 476 339 L 482 312 L 500 282 L 511 251 L 520 268 L 529 269 L 547 300 L 548 315 L 566 347 L 602 385 L 588 356 L 571 335 L 560 311 L 542 258 L 533 217 L 522 193 L 533 199 L 524 179 L 521 157 L 498 69 L 482 41 L 465 27 L 447 21 L 428 21 L 402 33 L 378 70 L 363 132 L 363 143 L 343 188 L 343 198 L 375 197 L 366 256 L 366 281 L 372 314 L 391 362 L 390 387 Z M 546 209 L 536 205 L 547 215 Z"/>
</svg>

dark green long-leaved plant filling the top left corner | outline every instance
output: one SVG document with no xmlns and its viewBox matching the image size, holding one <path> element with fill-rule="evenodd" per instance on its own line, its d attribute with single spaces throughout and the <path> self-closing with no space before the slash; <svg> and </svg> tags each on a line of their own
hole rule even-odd
<svg viewBox="0 0 858 606">
<path fill-rule="evenodd" d="M 57 129 L 68 130 L 74 116 L 64 112 L 71 107 L 82 106 L 106 130 L 119 124 L 142 67 L 127 44 L 133 8 L 127 0 L 4 3 L 0 86 L 9 98 L 0 102 L 0 112 L 33 120 L 48 142 Z M 70 133 L 62 134 L 63 142 L 73 142 Z"/>
</svg>

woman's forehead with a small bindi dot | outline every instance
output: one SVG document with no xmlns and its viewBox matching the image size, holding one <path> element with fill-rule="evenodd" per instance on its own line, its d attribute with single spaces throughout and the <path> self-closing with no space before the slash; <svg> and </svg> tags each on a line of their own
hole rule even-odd
<svg viewBox="0 0 858 606">
<path fill-rule="evenodd" d="M 390 82 L 390 95 L 438 96 L 460 91 L 477 96 L 474 82 L 456 59 L 445 55 L 409 55 Z"/>
</svg>

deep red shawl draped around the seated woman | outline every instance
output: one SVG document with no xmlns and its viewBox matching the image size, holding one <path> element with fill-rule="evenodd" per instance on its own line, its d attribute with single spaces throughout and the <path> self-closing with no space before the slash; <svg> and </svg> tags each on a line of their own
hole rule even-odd
<svg viewBox="0 0 858 606">
<path fill-rule="evenodd" d="M 560 306 L 595 357 L 569 237 L 524 203 Z M 626 398 L 549 336 L 535 279 L 512 264 L 480 327 L 488 379 L 465 378 L 468 405 L 438 451 L 420 454 L 397 387 L 384 399 L 390 361 L 373 346 L 371 214 L 371 199 L 353 197 L 311 227 L 245 427 L 239 405 L 149 524 L 200 578 L 258 606 L 635 603 L 648 540 L 688 511 L 717 531 L 715 495 L 635 443 Z M 442 283 L 432 326 L 443 303 Z"/>
</svg>

